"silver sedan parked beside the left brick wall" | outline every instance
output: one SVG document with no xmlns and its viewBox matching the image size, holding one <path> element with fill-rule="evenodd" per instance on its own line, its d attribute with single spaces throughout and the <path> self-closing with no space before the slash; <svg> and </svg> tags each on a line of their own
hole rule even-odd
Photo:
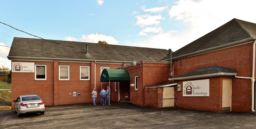
<svg viewBox="0 0 256 129">
<path fill-rule="evenodd" d="M 37 95 L 21 95 L 14 102 L 14 111 L 20 117 L 21 114 L 40 112 L 44 114 L 44 102 Z"/>
</svg>

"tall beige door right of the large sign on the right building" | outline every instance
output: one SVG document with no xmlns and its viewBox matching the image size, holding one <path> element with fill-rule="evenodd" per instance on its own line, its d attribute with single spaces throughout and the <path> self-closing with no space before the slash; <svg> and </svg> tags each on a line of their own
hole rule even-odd
<svg viewBox="0 0 256 129">
<path fill-rule="evenodd" d="M 231 111 L 232 80 L 222 81 L 222 112 Z"/>
</svg>

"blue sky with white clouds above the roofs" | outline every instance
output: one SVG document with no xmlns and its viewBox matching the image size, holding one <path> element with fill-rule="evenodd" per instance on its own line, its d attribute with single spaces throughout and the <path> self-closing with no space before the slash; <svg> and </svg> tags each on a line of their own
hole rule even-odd
<svg viewBox="0 0 256 129">
<path fill-rule="evenodd" d="M 44 39 L 176 51 L 233 18 L 256 23 L 254 0 L 0 0 L 0 21 Z M 0 24 L 0 67 L 13 37 Z M 4 47 L 7 46 L 7 47 Z"/>
</svg>

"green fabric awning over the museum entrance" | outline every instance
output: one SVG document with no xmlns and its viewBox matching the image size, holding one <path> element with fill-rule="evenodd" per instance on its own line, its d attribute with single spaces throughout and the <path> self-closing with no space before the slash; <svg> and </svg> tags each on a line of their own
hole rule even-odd
<svg viewBox="0 0 256 129">
<path fill-rule="evenodd" d="M 100 82 L 131 80 L 131 76 L 126 69 L 103 69 Z"/>
</svg>

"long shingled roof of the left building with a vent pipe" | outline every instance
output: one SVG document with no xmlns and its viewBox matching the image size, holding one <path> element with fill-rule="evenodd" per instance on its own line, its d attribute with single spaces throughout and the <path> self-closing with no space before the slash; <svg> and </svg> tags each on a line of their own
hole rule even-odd
<svg viewBox="0 0 256 129">
<path fill-rule="evenodd" d="M 14 37 L 8 58 L 40 57 L 108 61 L 159 61 L 169 53 L 166 49 L 59 40 L 49 41 Z M 88 44 L 89 54 L 85 54 L 86 44 Z"/>
</svg>

